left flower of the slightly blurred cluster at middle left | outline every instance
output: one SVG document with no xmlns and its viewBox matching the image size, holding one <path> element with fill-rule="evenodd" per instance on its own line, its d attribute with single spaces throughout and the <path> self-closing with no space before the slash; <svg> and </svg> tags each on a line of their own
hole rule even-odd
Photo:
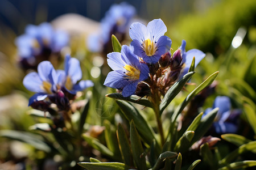
<svg viewBox="0 0 256 170">
<path fill-rule="evenodd" d="M 49 61 L 43 61 L 38 65 L 38 73 L 28 73 L 23 79 L 23 85 L 36 94 L 30 97 L 28 105 L 35 101 L 42 101 L 50 94 L 56 92 L 57 74 Z"/>
</svg>

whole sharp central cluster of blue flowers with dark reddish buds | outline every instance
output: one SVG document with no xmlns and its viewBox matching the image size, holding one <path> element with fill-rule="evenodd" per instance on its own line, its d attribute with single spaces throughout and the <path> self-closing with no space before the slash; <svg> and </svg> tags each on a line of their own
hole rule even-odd
<svg viewBox="0 0 256 170">
<path fill-rule="evenodd" d="M 195 66 L 205 57 L 197 49 L 185 51 L 183 40 L 172 55 L 171 39 L 164 36 L 166 25 L 154 19 L 144 25 L 130 26 L 130 46 L 123 45 L 121 52 L 108 54 L 108 65 L 114 70 L 106 77 L 105 86 L 117 88 L 124 97 L 166 94 L 172 84 L 188 72 L 193 57 Z"/>
</svg>

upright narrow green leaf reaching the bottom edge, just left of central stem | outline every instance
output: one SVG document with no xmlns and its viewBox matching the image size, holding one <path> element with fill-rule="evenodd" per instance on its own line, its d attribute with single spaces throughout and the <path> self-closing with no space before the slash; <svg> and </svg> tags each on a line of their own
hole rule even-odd
<svg viewBox="0 0 256 170">
<path fill-rule="evenodd" d="M 131 120 L 130 126 L 130 138 L 131 138 L 131 150 L 133 151 L 133 158 L 138 169 L 147 169 L 146 166 L 146 153 L 143 150 L 141 139 L 135 128 L 133 120 Z"/>
</svg>

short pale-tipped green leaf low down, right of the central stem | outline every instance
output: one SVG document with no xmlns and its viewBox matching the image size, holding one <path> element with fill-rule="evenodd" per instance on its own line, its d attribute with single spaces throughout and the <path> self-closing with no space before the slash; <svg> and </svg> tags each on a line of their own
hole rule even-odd
<svg viewBox="0 0 256 170">
<path fill-rule="evenodd" d="M 191 141 L 194 135 L 194 131 L 185 131 L 183 136 L 180 137 L 179 141 L 177 141 L 176 146 L 174 147 L 174 151 L 183 152 L 187 150 L 187 148 L 191 146 Z"/>
</svg>

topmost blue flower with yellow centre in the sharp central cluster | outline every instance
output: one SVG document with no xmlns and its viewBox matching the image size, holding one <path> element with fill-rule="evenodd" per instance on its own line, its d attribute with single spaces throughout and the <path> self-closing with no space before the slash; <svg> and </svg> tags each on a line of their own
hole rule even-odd
<svg viewBox="0 0 256 170">
<path fill-rule="evenodd" d="M 161 19 L 154 19 L 146 25 L 133 23 L 130 37 L 133 40 L 134 53 L 146 63 L 156 63 L 171 48 L 172 41 L 164 36 L 167 28 Z"/>
</svg>

